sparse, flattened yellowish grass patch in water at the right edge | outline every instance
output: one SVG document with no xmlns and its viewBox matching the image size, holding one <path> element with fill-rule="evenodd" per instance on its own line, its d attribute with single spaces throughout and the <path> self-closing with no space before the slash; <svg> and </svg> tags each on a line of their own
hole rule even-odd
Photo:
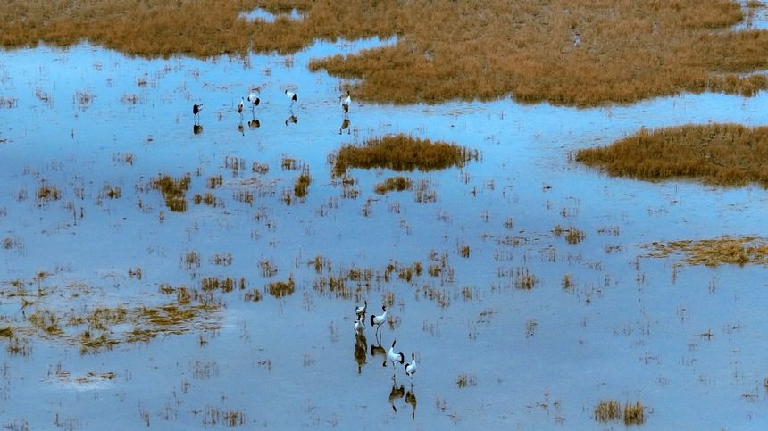
<svg viewBox="0 0 768 431">
<path fill-rule="evenodd" d="M 768 239 L 755 236 L 720 236 L 714 239 L 681 240 L 670 243 L 643 245 L 651 249 L 648 257 L 669 257 L 683 254 L 682 261 L 690 265 L 716 267 L 722 264 L 768 265 Z"/>
</svg>

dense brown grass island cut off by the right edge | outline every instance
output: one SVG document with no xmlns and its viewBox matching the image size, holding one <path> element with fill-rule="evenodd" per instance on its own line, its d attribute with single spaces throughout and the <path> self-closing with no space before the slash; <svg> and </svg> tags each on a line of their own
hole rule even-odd
<svg viewBox="0 0 768 431">
<path fill-rule="evenodd" d="M 768 127 L 685 125 L 637 134 L 588 148 L 576 160 L 610 175 L 660 180 L 691 178 L 720 186 L 768 186 Z"/>
</svg>

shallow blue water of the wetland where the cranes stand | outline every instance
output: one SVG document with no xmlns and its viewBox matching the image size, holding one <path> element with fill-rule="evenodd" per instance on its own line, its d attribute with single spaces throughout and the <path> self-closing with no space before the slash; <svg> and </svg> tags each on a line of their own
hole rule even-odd
<svg viewBox="0 0 768 431">
<path fill-rule="evenodd" d="M 768 97 L 680 95 L 587 110 L 509 99 L 355 102 L 340 129 L 343 83 L 310 73 L 307 62 L 393 42 L 208 62 L 129 58 L 88 45 L 0 54 L 0 96 L 16 99 L 0 108 L 0 233 L 9 239 L 0 250 L 0 327 L 21 333 L 38 310 L 169 303 L 161 285 L 197 288 L 206 277 L 244 278 L 247 290 L 263 294 L 249 302 L 239 289 L 216 292 L 221 308 L 208 319 L 215 329 L 191 325 L 111 350 L 82 354 L 79 344 L 38 330 L 23 352 L 12 352 L 11 340 L 0 338 L 8 348 L 0 353 L 0 424 L 174 429 L 233 418 L 270 429 L 622 427 L 593 419 L 608 399 L 642 402 L 643 427 L 651 429 L 768 424 L 768 321 L 757 308 L 768 300 L 764 269 L 678 267 L 676 257 L 643 258 L 639 248 L 764 236 L 768 195 L 753 186 L 608 178 L 569 158 L 644 127 L 762 124 Z M 262 104 L 253 113 L 246 106 L 241 118 L 237 104 L 250 87 L 260 87 Z M 194 103 L 204 104 L 199 120 Z M 249 127 L 256 119 L 259 127 Z M 332 178 L 329 156 L 340 145 L 401 132 L 477 149 L 481 159 L 431 172 L 350 170 L 355 184 L 347 189 Z M 283 195 L 301 170 L 281 169 L 285 158 L 313 178 L 305 199 L 289 205 Z M 233 159 L 246 168 L 232 169 Z M 254 162 L 269 171 L 255 175 Z M 187 172 L 188 211 L 171 211 L 148 183 Z M 222 186 L 207 188 L 220 174 Z M 416 202 L 414 191 L 373 192 L 395 175 L 422 181 L 434 202 Z M 39 200 L 42 185 L 57 186 L 61 199 Z M 121 197 L 105 195 L 105 186 L 120 186 Z M 350 188 L 356 198 L 345 197 Z M 244 190 L 253 203 L 235 198 Z M 192 202 L 206 192 L 217 206 Z M 558 225 L 586 237 L 569 245 L 553 233 Z M 199 266 L 185 262 L 190 252 Z M 230 264 L 217 263 L 226 253 Z M 316 256 L 331 268 L 318 274 Z M 263 261 L 277 273 L 265 274 Z M 411 282 L 397 272 L 384 279 L 389 263 L 416 261 L 424 271 Z M 440 266 L 439 277 L 428 274 L 430 264 Z M 140 279 L 129 274 L 137 268 Z M 353 268 L 377 277 L 352 298 L 313 287 Z M 35 279 L 40 271 L 49 275 Z M 531 290 L 515 286 L 525 271 L 538 279 Z M 570 289 L 562 286 L 566 274 Z M 267 293 L 267 283 L 288 278 L 294 294 Z M 47 294 L 24 304 L 13 280 Z M 396 320 L 382 328 L 380 344 L 397 338 L 398 350 L 420 359 L 413 386 L 396 369 L 396 389 L 415 396 L 415 410 L 405 394 L 390 400 L 391 365 L 371 356 L 370 326 L 364 363 L 355 361 L 354 307 L 367 299 L 379 313 L 387 294 Z M 460 376 L 469 385 L 457 385 Z"/>
</svg>

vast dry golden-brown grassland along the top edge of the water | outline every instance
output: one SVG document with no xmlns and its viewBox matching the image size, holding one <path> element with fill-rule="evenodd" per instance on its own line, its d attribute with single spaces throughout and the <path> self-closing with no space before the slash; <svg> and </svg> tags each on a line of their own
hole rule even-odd
<svg viewBox="0 0 768 431">
<path fill-rule="evenodd" d="M 246 21 L 293 7 L 303 19 Z M 208 57 L 296 52 L 316 39 L 397 36 L 397 43 L 311 62 L 355 98 L 395 103 L 493 99 L 597 105 L 682 91 L 754 94 L 768 87 L 768 32 L 730 31 L 730 0 L 9 0 L 0 45 L 88 39 L 128 54 Z M 433 25 L 424 25 L 432 23 Z M 580 32 L 580 46 L 573 37 Z"/>
</svg>

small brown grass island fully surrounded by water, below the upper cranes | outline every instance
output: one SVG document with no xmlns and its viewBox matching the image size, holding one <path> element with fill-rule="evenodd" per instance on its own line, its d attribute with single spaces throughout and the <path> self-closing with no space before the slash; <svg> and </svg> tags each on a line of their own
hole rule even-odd
<svg viewBox="0 0 768 431">
<path fill-rule="evenodd" d="M 333 172 L 342 176 L 348 168 L 390 170 L 441 170 L 463 166 L 478 153 L 460 145 L 432 142 L 409 135 L 374 137 L 361 146 L 345 145 L 336 153 Z"/>
</svg>

